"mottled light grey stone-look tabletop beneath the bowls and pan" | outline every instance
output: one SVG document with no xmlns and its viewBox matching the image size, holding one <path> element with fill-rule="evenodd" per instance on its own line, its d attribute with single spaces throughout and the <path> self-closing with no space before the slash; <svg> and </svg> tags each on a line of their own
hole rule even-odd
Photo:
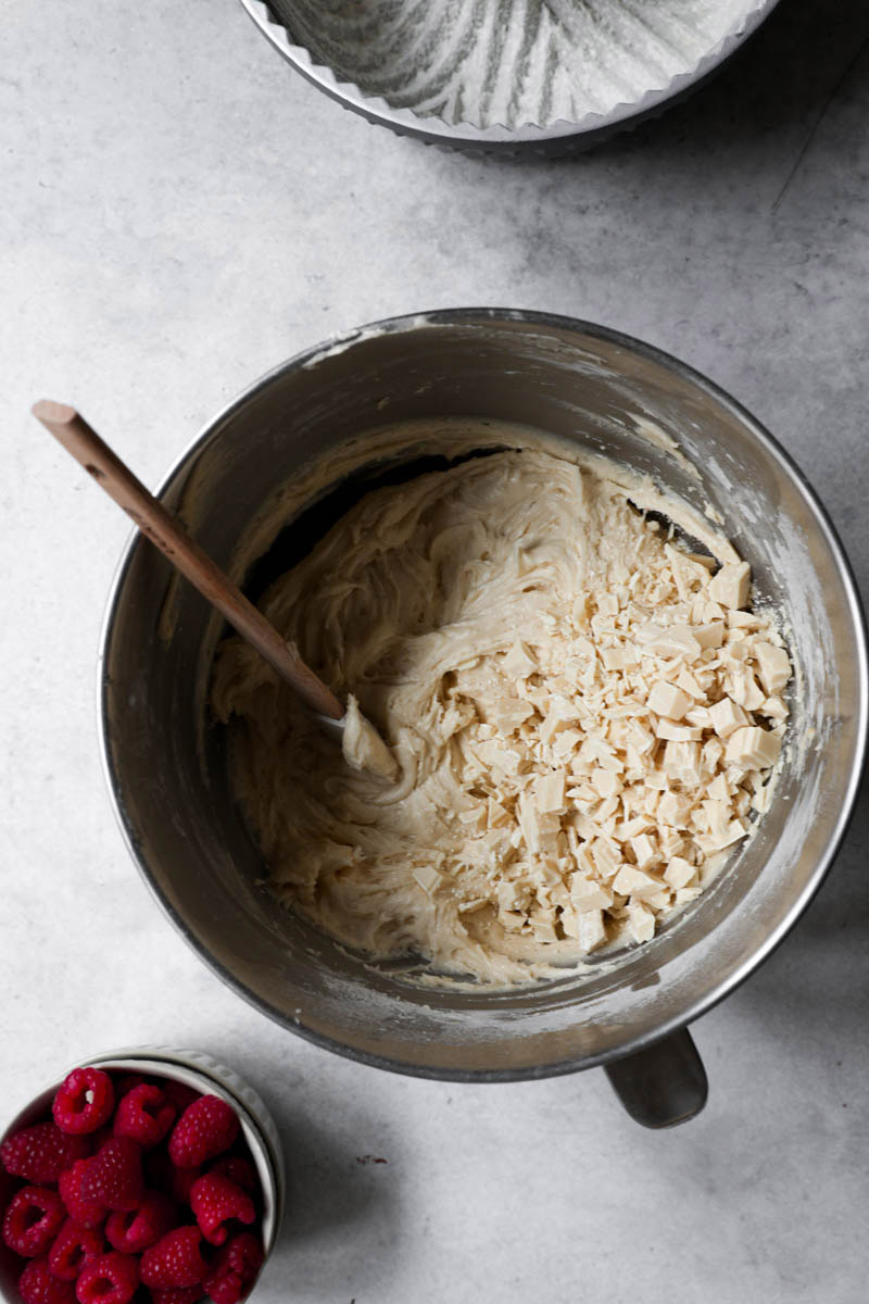
<svg viewBox="0 0 869 1304">
<path fill-rule="evenodd" d="M 27 416 L 78 403 L 156 482 L 233 393 L 332 331 L 563 312 L 752 408 L 865 591 L 865 0 L 783 0 L 694 99 L 555 163 L 369 128 L 233 0 L 0 8 L 4 1115 L 117 1043 L 237 1065 L 292 1171 L 262 1304 L 865 1300 L 865 797 L 799 927 L 696 1026 L 711 1095 L 681 1129 L 638 1129 L 601 1073 L 460 1088 L 314 1050 L 218 985 L 128 862 L 94 709 L 126 524 Z"/>
</svg>

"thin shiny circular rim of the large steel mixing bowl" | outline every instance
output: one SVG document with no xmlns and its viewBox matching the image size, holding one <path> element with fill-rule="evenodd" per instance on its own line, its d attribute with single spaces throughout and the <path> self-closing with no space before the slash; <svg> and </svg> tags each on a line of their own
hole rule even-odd
<svg viewBox="0 0 869 1304">
<path fill-rule="evenodd" d="M 633 1055 L 638 1051 L 646 1050 L 658 1042 L 664 1041 L 672 1033 L 679 1031 L 679 1029 L 688 1026 L 701 1015 L 707 1013 L 715 1005 L 719 1004 L 726 996 L 740 987 L 762 964 L 767 960 L 773 952 L 780 945 L 791 928 L 796 925 L 797 919 L 801 917 L 804 910 L 808 908 L 816 893 L 818 892 L 821 884 L 823 883 L 826 875 L 829 874 L 833 862 L 842 846 L 843 838 L 846 836 L 851 816 L 853 814 L 855 803 L 857 799 L 857 793 L 860 789 L 862 771 L 866 759 L 866 742 L 869 734 L 869 632 L 866 629 L 866 619 L 862 610 L 862 604 L 860 600 L 860 592 L 856 584 L 853 570 L 848 559 L 847 553 L 839 540 L 838 532 L 833 520 L 830 519 L 823 503 L 818 498 L 816 490 L 809 484 L 809 480 L 799 468 L 796 462 L 784 450 L 784 447 L 775 439 L 773 434 L 752 413 L 743 407 L 736 399 L 734 399 L 726 390 L 720 389 L 714 381 L 710 381 L 702 373 L 694 370 L 687 363 L 680 359 L 674 357 L 671 353 L 657 348 L 653 344 L 648 344 L 644 340 L 634 339 L 621 331 L 612 330 L 607 326 L 601 326 L 595 322 L 588 322 L 580 318 L 565 317 L 556 313 L 535 312 L 530 309 L 512 309 L 512 308 L 447 308 L 436 309 L 434 312 L 422 313 L 409 313 L 399 317 L 387 317 L 375 322 L 370 322 L 365 326 L 356 327 L 354 330 L 345 331 L 343 334 L 332 335 L 328 339 L 314 344 L 301 352 L 294 353 L 292 357 L 287 359 L 284 363 L 279 363 L 276 366 L 270 368 L 257 379 L 254 379 L 249 386 L 236 394 L 235 398 L 229 399 L 228 403 L 220 408 L 220 411 L 206 421 L 206 424 L 199 429 L 199 433 L 186 445 L 181 454 L 175 459 L 168 472 L 163 476 L 159 488 L 156 489 L 156 497 L 162 498 L 167 489 L 172 485 L 177 475 L 184 469 L 185 466 L 195 459 L 198 451 L 206 445 L 211 438 L 215 429 L 224 425 L 232 416 L 241 411 L 250 403 L 262 390 L 271 386 L 276 379 L 293 372 L 298 368 L 313 368 L 318 361 L 327 359 L 332 353 L 344 352 L 345 349 L 353 347 L 356 343 L 373 336 L 403 334 L 413 330 L 429 330 L 431 327 L 449 327 L 449 326 L 464 326 L 473 327 L 476 323 L 515 323 L 524 326 L 542 326 L 555 330 L 567 331 L 572 335 L 585 335 L 593 340 L 601 340 L 607 344 L 615 344 L 624 348 L 628 352 L 634 352 L 646 361 L 654 363 L 659 366 L 675 372 L 675 374 L 692 385 L 697 386 L 705 394 L 715 399 L 726 411 L 728 411 L 734 417 L 736 417 L 743 425 L 745 425 L 752 436 L 761 443 L 761 446 L 767 451 L 767 454 L 779 464 L 779 467 L 786 472 L 788 479 L 792 481 L 795 488 L 801 493 L 806 506 L 812 511 L 818 529 L 821 531 L 830 553 L 836 563 L 836 569 L 846 589 L 847 595 L 847 610 L 851 617 L 851 626 L 855 632 L 855 639 L 857 643 L 857 686 L 859 686 L 859 711 L 857 711 L 857 730 L 856 730 L 856 746 L 853 751 L 853 760 L 851 775 L 848 780 L 847 789 L 842 798 L 842 806 L 839 815 L 836 818 L 835 827 L 829 838 L 827 846 L 823 854 L 819 857 L 814 872 L 809 878 L 805 888 L 791 905 L 790 910 L 779 923 L 779 926 L 770 932 L 765 939 L 762 947 L 760 947 L 747 961 L 737 966 L 730 975 L 718 982 L 713 988 L 702 992 L 697 996 L 691 1005 L 684 1009 L 680 1015 L 674 1016 L 664 1024 L 657 1026 L 655 1029 L 642 1033 L 631 1041 L 612 1047 L 606 1051 L 601 1051 L 595 1055 L 590 1055 L 577 1059 L 567 1059 L 552 1064 L 546 1064 L 542 1067 L 532 1065 L 530 1068 L 519 1069 L 440 1069 L 426 1064 L 412 1064 L 405 1060 L 391 1059 L 384 1055 L 375 1055 L 371 1051 L 357 1050 L 353 1046 L 348 1046 L 344 1042 L 339 1042 L 332 1037 L 307 1028 L 298 1018 L 291 1018 L 284 1015 L 280 1009 L 272 1005 L 268 1000 L 258 996 L 255 992 L 250 991 L 238 978 L 232 974 L 225 965 L 216 960 L 207 948 L 199 941 L 194 935 L 190 926 L 181 917 L 181 914 L 175 909 L 168 897 L 162 892 L 155 876 L 151 874 L 146 858 L 141 853 L 137 844 L 135 832 L 132 827 L 132 822 L 128 818 L 126 808 L 122 799 L 120 777 L 115 769 L 112 759 L 112 748 L 109 743 L 109 721 L 108 721 L 108 690 L 109 681 L 106 673 L 107 662 L 107 649 L 112 638 L 112 629 L 117 609 L 122 597 L 125 582 L 133 559 L 137 554 L 139 546 L 146 545 L 146 540 L 139 535 L 137 529 L 132 532 L 128 537 L 121 557 L 119 559 L 115 576 L 109 588 L 108 601 L 106 605 L 106 613 L 103 618 L 103 626 L 100 631 L 100 645 L 96 662 L 96 708 L 98 708 L 98 732 L 99 732 L 99 745 L 100 745 L 100 759 L 103 765 L 103 775 L 109 792 L 109 798 L 115 811 L 117 824 L 121 831 L 126 849 L 135 863 L 142 879 L 149 887 L 151 895 L 155 897 L 158 904 L 162 906 L 163 911 L 167 914 L 169 922 L 173 925 L 176 931 L 184 938 L 189 947 L 199 956 L 201 960 L 215 973 L 236 995 L 241 996 L 249 1005 L 253 1005 L 259 1013 L 266 1015 L 268 1018 L 274 1020 L 281 1028 L 288 1031 L 296 1033 L 305 1041 L 311 1042 L 324 1050 L 334 1051 L 345 1059 L 354 1060 L 356 1063 L 367 1064 L 373 1068 L 382 1068 L 390 1072 L 401 1073 L 409 1077 L 421 1077 L 429 1081 L 451 1081 L 451 1082 L 519 1082 L 530 1081 L 543 1077 L 560 1077 L 565 1073 L 576 1073 L 589 1068 L 597 1068 L 612 1060 L 621 1059 L 624 1056 Z"/>
</svg>

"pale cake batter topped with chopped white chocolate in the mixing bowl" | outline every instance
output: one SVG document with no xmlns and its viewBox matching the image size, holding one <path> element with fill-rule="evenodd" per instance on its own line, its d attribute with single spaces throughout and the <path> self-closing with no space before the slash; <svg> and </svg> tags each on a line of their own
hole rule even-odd
<svg viewBox="0 0 869 1304">
<path fill-rule="evenodd" d="M 212 702 L 283 901 L 375 957 L 519 982 L 648 941 L 711 880 L 769 806 L 791 661 L 732 546 L 688 553 L 632 502 L 494 452 L 366 494 L 275 585 L 266 614 L 358 692 L 392 781 L 221 645 Z"/>
</svg>

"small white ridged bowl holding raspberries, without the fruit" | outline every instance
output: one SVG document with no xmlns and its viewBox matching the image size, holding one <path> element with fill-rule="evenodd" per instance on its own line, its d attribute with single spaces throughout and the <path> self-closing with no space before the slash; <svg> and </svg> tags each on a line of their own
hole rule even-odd
<svg viewBox="0 0 869 1304">
<path fill-rule="evenodd" d="M 278 1240 L 284 1214 L 287 1175 L 278 1129 L 255 1091 L 233 1069 L 218 1064 L 211 1056 L 199 1051 L 177 1051 L 158 1046 L 129 1047 L 106 1051 L 82 1060 L 81 1064 L 93 1064 L 102 1069 L 125 1073 L 145 1073 L 149 1077 L 168 1077 L 176 1082 L 185 1082 L 203 1095 L 220 1095 L 233 1107 L 238 1115 L 242 1136 L 248 1142 L 262 1188 L 262 1239 L 267 1261 Z M 21 1110 L 0 1136 L 0 1142 L 17 1132 L 18 1128 L 30 1127 L 48 1118 L 51 1102 L 61 1081 L 63 1077 L 53 1086 L 40 1091 L 30 1104 Z M 0 1209 L 5 1209 L 14 1187 L 16 1179 L 10 1179 L 0 1170 Z M 8 1245 L 0 1243 L 0 1296 L 9 1304 L 21 1304 L 16 1284 L 20 1271 L 21 1260 L 18 1256 L 13 1254 Z"/>
</svg>

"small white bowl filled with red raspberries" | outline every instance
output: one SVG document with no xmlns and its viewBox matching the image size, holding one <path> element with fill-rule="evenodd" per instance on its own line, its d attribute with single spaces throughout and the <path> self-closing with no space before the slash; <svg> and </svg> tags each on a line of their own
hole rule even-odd
<svg viewBox="0 0 869 1304">
<path fill-rule="evenodd" d="M 284 1161 L 259 1097 L 195 1051 L 115 1051 L 0 1140 L 0 1295 L 23 1304 L 238 1304 L 271 1252 Z"/>
</svg>

